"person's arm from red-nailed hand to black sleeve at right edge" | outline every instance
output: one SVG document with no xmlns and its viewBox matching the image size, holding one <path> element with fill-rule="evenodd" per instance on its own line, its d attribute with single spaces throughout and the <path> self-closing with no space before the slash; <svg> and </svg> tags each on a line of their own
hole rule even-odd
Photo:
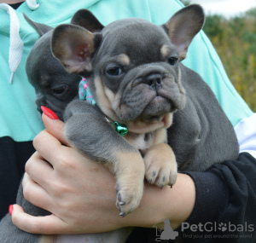
<svg viewBox="0 0 256 243">
<path fill-rule="evenodd" d="M 58 131 L 63 124 L 45 116 L 43 118 L 49 132 L 62 143 L 66 143 L 62 132 Z M 155 223 L 166 218 L 170 219 L 172 229 L 177 229 L 183 222 L 189 225 L 224 223 L 226 220 L 236 224 L 256 223 L 254 214 L 251 213 L 256 203 L 256 159 L 247 153 L 241 153 L 237 161 L 213 165 L 206 172 L 188 172 L 189 176 L 178 174 L 177 183 L 172 189 L 166 187 L 161 190 L 145 183 L 141 205 L 131 215 L 122 218 L 114 205 L 115 182 L 108 170 L 84 159 L 73 148 L 62 146 L 55 136 L 46 131 L 39 136 L 40 139 L 35 141 L 36 148 L 43 146 L 42 149 L 45 147 L 53 157 L 62 159 L 56 159 L 55 162 L 49 160 L 55 167 L 53 169 L 39 153 L 35 153 L 26 170 L 43 187 L 35 184 L 30 176 L 26 176 L 25 194 L 33 204 L 53 212 L 53 215 L 32 217 L 15 205 L 12 217 L 20 229 L 40 234 L 84 234 L 126 226 L 152 228 Z M 38 170 L 40 164 L 47 165 L 48 169 L 39 167 Z M 182 231 L 183 227 L 179 230 Z M 191 233 L 190 229 L 184 232 Z M 253 237 L 255 238 L 254 234 Z"/>
</svg>

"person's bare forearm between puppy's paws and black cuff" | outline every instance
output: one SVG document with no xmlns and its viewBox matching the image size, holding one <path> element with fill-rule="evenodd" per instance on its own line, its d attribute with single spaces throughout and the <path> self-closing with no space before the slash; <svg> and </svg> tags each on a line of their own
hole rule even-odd
<svg viewBox="0 0 256 243">
<path fill-rule="evenodd" d="M 141 204 L 124 220 L 127 226 L 151 228 L 155 223 L 170 219 L 172 229 L 177 229 L 189 217 L 194 205 L 194 181 L 190 176 L 178 174 L 173 188 L 160 189 L 146 182 Z"/>
</svg>

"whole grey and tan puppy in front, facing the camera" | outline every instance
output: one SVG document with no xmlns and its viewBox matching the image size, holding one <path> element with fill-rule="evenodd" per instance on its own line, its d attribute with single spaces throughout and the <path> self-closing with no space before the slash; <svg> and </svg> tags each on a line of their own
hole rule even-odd
<svg viewBox="0 0 256 243">
<path fill-rule="evenodd" d="M 82 9 L 73 25 L 58 26 L 52 34 L 53 54 L 67 72 L 87 78 L 96 101 L 96 106 L 80 100 L 68 104 L 67 139 L 113 171 L 122 217 L 139 205 L 144 176 L 160 188 L 172 186 L 177 169 L 206 171 L 238 157 L 235 131 L 212 90 L 180 62 L 204 20 L 201 7 L 190 5 L 163 26 L 126 19 L 104 27 Z M 128 133 L 120 136 L 126 127 Z M 28 205 L 20 192 L 18 202 L 26 211 L 46 214 Z M 8 233 L 1 232 L 0 240 L 46 240 L 11 226 L 8 216 L 1 228 Z"/>
</svg>

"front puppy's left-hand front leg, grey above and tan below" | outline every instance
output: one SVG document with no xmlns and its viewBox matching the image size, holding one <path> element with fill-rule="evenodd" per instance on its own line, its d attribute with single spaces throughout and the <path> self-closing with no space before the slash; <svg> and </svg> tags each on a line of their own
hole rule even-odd
<svg viewBox="0 0 256 243">
<path fill-rule="evenodd" d="M 137 208 L 143 195 L 145 165 L 136 148 L 120 136 L 96 107 L 73 101 L 65 112 L 69 142 L 91 159 L 102 162 L 116 176 L 121 216 Z"/>
</svg>

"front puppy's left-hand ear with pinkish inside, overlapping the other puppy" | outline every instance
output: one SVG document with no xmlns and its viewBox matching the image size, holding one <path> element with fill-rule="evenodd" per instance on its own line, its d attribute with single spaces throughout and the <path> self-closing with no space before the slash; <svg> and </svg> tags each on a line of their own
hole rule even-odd
<svg viewBox="0 0 256 243">
<path fill-rule="evenodd" d="M 91 59 L 100 43 L 101 34 L 93 34 L 80 26 L 61 25 L 53 32 L 51 49 L 67 72 L 90 76 Z"/>
</svg>

